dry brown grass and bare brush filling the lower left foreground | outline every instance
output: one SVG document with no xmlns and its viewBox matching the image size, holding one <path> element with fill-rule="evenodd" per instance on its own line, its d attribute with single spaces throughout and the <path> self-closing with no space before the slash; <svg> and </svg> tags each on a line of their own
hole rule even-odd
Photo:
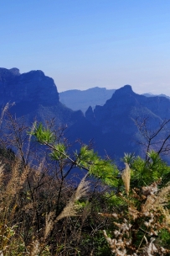
<svg viewBox="0 0 170 256">
<path fill-rule="evenodd" d="M 79 255 L 82 230 L 89 226 L 86 219 L 92 211 L 86 177 L 75 189 L 70 180 L 61 184 L 46 168 L 24 167 L 16 158 L 8 173 L 1 164 L 0 179 L 2 255 Z M 85 233 L 95 232 L 95 227 L 88 228 Z"/>
</svg>

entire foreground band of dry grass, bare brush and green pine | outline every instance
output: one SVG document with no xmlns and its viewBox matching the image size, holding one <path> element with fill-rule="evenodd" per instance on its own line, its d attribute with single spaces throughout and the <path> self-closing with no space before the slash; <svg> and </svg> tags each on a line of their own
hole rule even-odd
<svg viewBox="0 0 170 256">
<path fill-rule="evenodd" d="M 170 168 L 156 152 L 119 172 L 90 147 L 71 152 L 53 123 L 4 126 L 0 256 L 170 254 Z"/>
</svg>

